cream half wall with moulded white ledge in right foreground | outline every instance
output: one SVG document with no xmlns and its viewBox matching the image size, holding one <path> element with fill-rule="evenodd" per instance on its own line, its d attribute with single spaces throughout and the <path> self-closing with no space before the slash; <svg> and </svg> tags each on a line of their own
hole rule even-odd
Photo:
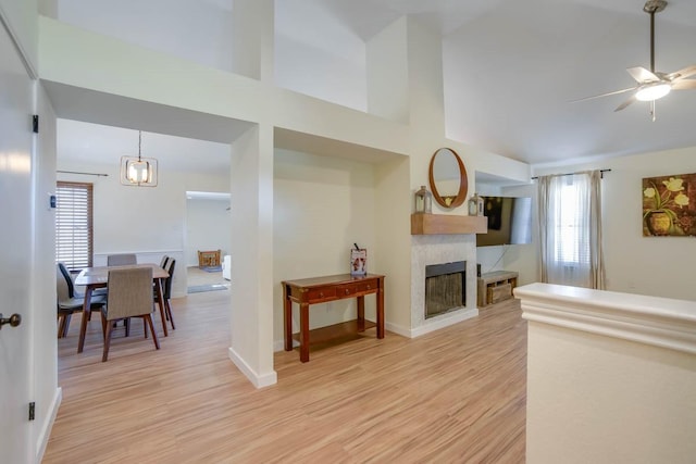
<svg viewBox="0 0 696 464">
<path fill-rule="evenodd" d="M 696 302 L 532 284 L 531 463 L 692 463 Z"/>
</svg>

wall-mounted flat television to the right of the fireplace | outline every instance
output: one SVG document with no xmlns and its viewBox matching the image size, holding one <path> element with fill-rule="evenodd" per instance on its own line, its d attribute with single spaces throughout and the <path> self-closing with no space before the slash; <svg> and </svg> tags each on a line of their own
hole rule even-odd
<svg viewBox="0 0 696 464">
<path fill-rule="evenodd" d="M 532 198 L 482 196 L 488 233 L 476 234 L 476 247 L 532 242 Z"/>
</svg>

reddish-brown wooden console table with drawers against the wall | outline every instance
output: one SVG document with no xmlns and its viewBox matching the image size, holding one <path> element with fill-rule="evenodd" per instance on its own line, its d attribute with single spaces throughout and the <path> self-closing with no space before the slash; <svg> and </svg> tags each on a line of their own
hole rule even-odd
<svg viewBox="0 0 696 464">
<path fill-rule="evenodd" d="M 300 280 L 285 280 L 283 284 L 285 351 L 293 351 L 293 302 L 300 305 L 300 361 L 309 361 L 310 334 L 319 335 L 327 328 L 309 329 L 309 305 L 327 303 L 345 298 L 358 299 L 358 318 L 338 324 L 352 326 L 357 331 L 364 331 L 375 324 L 365 321 L 365 294 L 375 293 L 377 299 L 377 338 L 384 338 L 384 276 L 368 274 L 352 276 L 340 274 L 335 276 L 312 277 Z M 334 327 L 334 326 L 331 326 Z"/>
</svg>

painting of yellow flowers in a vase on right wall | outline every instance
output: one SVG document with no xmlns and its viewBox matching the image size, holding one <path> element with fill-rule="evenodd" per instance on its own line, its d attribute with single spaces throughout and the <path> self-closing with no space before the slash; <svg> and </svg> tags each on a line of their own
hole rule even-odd
<svg viewBox="0 0 696 464">
<path fill-rule="evenodd" d="M 643 236 L 696 236 L 696 174 L 643 179 Z"/>
</svg>

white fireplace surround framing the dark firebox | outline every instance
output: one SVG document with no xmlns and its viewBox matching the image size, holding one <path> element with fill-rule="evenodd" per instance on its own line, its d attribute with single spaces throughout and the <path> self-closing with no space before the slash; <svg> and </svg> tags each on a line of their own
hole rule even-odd
<svg viewBox="0 0 696 464">
<path fill-rule="evenodd" d="M 425 266 L 467 262 L 467 302 L 455 310 L 425 319 Z M 413 235 L 411 236 L 411 330 L 418 337 L 478 315 L 476 308 L 476 236 Z"/>
</svg>

